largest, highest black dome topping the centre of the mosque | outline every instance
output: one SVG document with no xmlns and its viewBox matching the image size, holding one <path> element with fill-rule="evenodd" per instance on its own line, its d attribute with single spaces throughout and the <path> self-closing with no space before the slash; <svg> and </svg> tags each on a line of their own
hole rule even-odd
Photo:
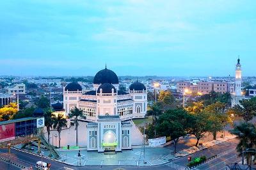
<svg viewBox="0 0 256 170">
<path fill-rule="evenodd" d="M 97 72 L 93 79 L 93 84 L 104 84 L 104 83 L 118 84 L 118 77 L 116 73 L 113 72 L 112 70 L 108 70 L 107 68 Z"/>
</svg>

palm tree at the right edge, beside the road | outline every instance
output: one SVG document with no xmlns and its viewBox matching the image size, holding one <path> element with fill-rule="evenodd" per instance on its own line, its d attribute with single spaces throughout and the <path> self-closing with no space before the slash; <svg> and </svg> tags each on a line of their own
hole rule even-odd
<svg viewBox="0 0 256 170">
<path fill-rule="evenodd" d="M 230 130 L 231 134 L 237 135 L 239 143 L 236 150 L 241 157 L 243 151 L 255 148 L 256 146 L 256 128 L 252 123 L 243 122 L 240 125 L 236 125 L 233 130 Z M 252 164 L 252 155 L 255 153 L 246 153 L 246 160 L 248 165 Z"/>
</svg>

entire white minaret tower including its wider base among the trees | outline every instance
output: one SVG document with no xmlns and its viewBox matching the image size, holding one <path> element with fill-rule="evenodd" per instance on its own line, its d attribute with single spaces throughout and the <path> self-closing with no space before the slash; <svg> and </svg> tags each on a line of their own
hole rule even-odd
<svg viewBox="0 0 256 170">
<path fill-rule="evenodd" d="M 232 95 L 231 106 L 240 105 L 239 101 L 243 100 L 245 97 L 242 94 L 242 69 L 240 64 L 240 59 L 237 59 L 236 65 L 236 79 L 235 79 L 235 93 Z"/>
</svg>

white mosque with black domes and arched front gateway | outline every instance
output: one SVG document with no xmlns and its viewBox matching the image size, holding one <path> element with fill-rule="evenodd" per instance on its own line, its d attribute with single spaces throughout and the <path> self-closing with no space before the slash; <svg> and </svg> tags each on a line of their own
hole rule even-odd
<svg viewBox="0 0 256 170">
<path fill-rule="evenodd" d="M 84 92 L 77 82 L 63 88 L 66 116 L 77 107 L 89 122 L 86 127 L 88 151 L 131 149 L 131 120 L 144 118 L 147 113 L 147 88 L 138 81 L 131 84 L 128 93 L 118 88 L 116 73 L 107 67 L 96 73 L 93 91 Z"/>
</svg>

